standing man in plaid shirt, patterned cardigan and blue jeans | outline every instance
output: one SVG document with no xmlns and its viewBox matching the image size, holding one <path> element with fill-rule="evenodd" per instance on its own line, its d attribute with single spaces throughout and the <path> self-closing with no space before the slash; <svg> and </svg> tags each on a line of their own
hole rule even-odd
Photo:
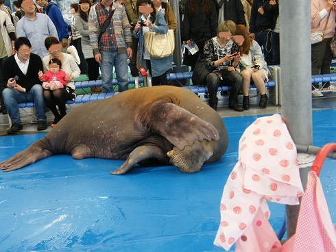
<svg viewBox="0 0 336 252">
<path fill-rule="evenodd" d="M 101 33 L 101 27 L 112 11 L 114 13 L 108 21 L 106 31 Z M 113 92 L 113 67 L 119 92 L 128 90 L 127 59 L 132 58 L 132 36 L 123 5 L 112 0 L 101 0 L 93 5 L 88 16 L 88 30 L 95 60 L 101 64 L 103 92 Z"/>
</svg>

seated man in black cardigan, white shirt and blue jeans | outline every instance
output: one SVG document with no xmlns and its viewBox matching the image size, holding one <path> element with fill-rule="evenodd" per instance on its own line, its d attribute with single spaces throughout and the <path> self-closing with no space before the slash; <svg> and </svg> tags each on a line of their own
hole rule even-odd
<svg viewBox="0 0 336 252">
<path fill-rule="evenodd" d="M 8 134 L 16 134 L 23 129 L 18 103 L 33 101 L 38 120 L 37 130 L 47 129 L 45 116 L 45 101 L 43 87 L 38 79 L 38 71 L 43 71 L 40 56 L 31 53 L 32 45 L 25 37 L 14 42 L 16 54 L 7 58 L 3 64 L 3 79 L 1 86 L 6 87 L 3 92 L 3 101 L 8 110 L 12 127 Z"/>
</svg>

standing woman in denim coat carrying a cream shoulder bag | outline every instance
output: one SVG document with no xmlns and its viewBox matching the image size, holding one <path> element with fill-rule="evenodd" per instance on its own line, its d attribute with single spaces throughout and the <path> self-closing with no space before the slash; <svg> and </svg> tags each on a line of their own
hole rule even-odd
<svg viewBox="0 0 336 252">
<path fill-rule="evenodd" d="M 156 12 L 151 0 L 138 0 L 136 6 L 144 8 L 144 12 L 138 18 L 134 27 L 134 38 L 139 38 L 140 66 L 149 70 L 152 75 L 152 86 L 168 85 L 167 73 L 173 69 L 171 56 L 165 58 L 152 58 L 145 46 L 143 34 L 152 30 L 159 34 L 167 34 L 168 26 L 162 12 Z M 140 12 L 141 10 L 139 10 Z M 149 12 L 152 11 L 152 12 Z"/>
</svg>

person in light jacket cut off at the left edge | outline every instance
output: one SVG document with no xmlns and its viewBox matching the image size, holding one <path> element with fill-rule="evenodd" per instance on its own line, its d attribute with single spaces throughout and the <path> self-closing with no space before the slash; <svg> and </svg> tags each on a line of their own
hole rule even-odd
<svg viewBox="0 0 336 252">
<path fill-rule="evenodd" d="M 16 39 L 15 36 L 15 28 L 10 20 L 10 17 L 0 10 L 0 81 L 3 75 L 3 62 L 6 58 L 10 57 L 10 55 L 15 54 L 14 49 L 14 41 Z M 2 92 L 4 86 L 0 86 L 0 92 Z M 2 114 L 7 114 L 7 108 L 3 105 L 3 98 L 0 94 L 0 112 Z"/>
</svg>

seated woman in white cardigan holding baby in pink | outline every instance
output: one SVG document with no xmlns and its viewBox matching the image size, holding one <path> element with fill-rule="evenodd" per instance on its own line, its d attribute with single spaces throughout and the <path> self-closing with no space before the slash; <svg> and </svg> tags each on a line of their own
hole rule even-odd
<svg viewBox="0 0 336 252">
<path fill-rule="evenodd" d="M 58 38 L 47 37 L 45 39 L 45 48 L 49 51 L 50 55 L 43 58 L 43 72 L 47 73 L 49 71 L 49 61 L 52 59 L 58 59 L 62 62 L 62 70 L 67 74 L 65 81 L 67 81 L 67 86 L 65 88 L 60 88 L 56 90 L 45 89 L 43 90 L 43 97 L 45 99 L 45 105 L 55 116 L 53 120 L 53 125 L 56 125 L 60 119 L 65 116 L 66 107 L 65 104 L 67 100 L 75 99 L 75 84 L 73 79 L 80 76 L 80 68 L 77 66 L 73 56 L 67 53 L 60 52 L 60 42 Z M 47 81 L 43 77 L 39 77 L 41 81 Z M 56 108 L 56 105 L 60 109 L 60 113 Z"/>
</svg>

